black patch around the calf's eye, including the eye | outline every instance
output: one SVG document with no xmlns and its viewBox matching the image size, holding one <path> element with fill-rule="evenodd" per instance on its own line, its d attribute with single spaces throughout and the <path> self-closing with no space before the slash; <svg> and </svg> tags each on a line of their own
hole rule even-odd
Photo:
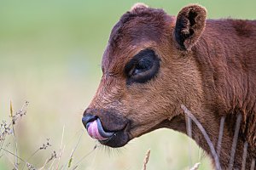
<svg viewBox="0 0 256 170">
<path fill-rule="evenodd" d="M 160 59 L 152 49 L 144 49 L 136 54 L 126 65 L 125 75 L 127 84 L 133 82 L 144 83 L 151 80 L 158 73 Z"/>
</svg>

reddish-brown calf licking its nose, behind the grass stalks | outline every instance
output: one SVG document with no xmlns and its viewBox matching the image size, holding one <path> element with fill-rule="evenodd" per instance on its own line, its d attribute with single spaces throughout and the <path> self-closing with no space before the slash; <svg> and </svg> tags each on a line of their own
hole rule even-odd
<svg viewBox="0 0 256 170">
<path fill-rule="evenodd" d="M 102 82 L 84 111 L 92 138 L 120 147 L 160 127 L 186 133 L 185 105 L 215 149 L 225 117 L 222 168 L 250 168 L 256 158 L 256 21 L 206 17 L 199 5 L 175 17 L 138 4 L 120 18 L 103 54 Z M 230 163 L 237 117 L 241 123 Z M 192 138 L 212 156 L 194 122 Z"/>
</svg>

